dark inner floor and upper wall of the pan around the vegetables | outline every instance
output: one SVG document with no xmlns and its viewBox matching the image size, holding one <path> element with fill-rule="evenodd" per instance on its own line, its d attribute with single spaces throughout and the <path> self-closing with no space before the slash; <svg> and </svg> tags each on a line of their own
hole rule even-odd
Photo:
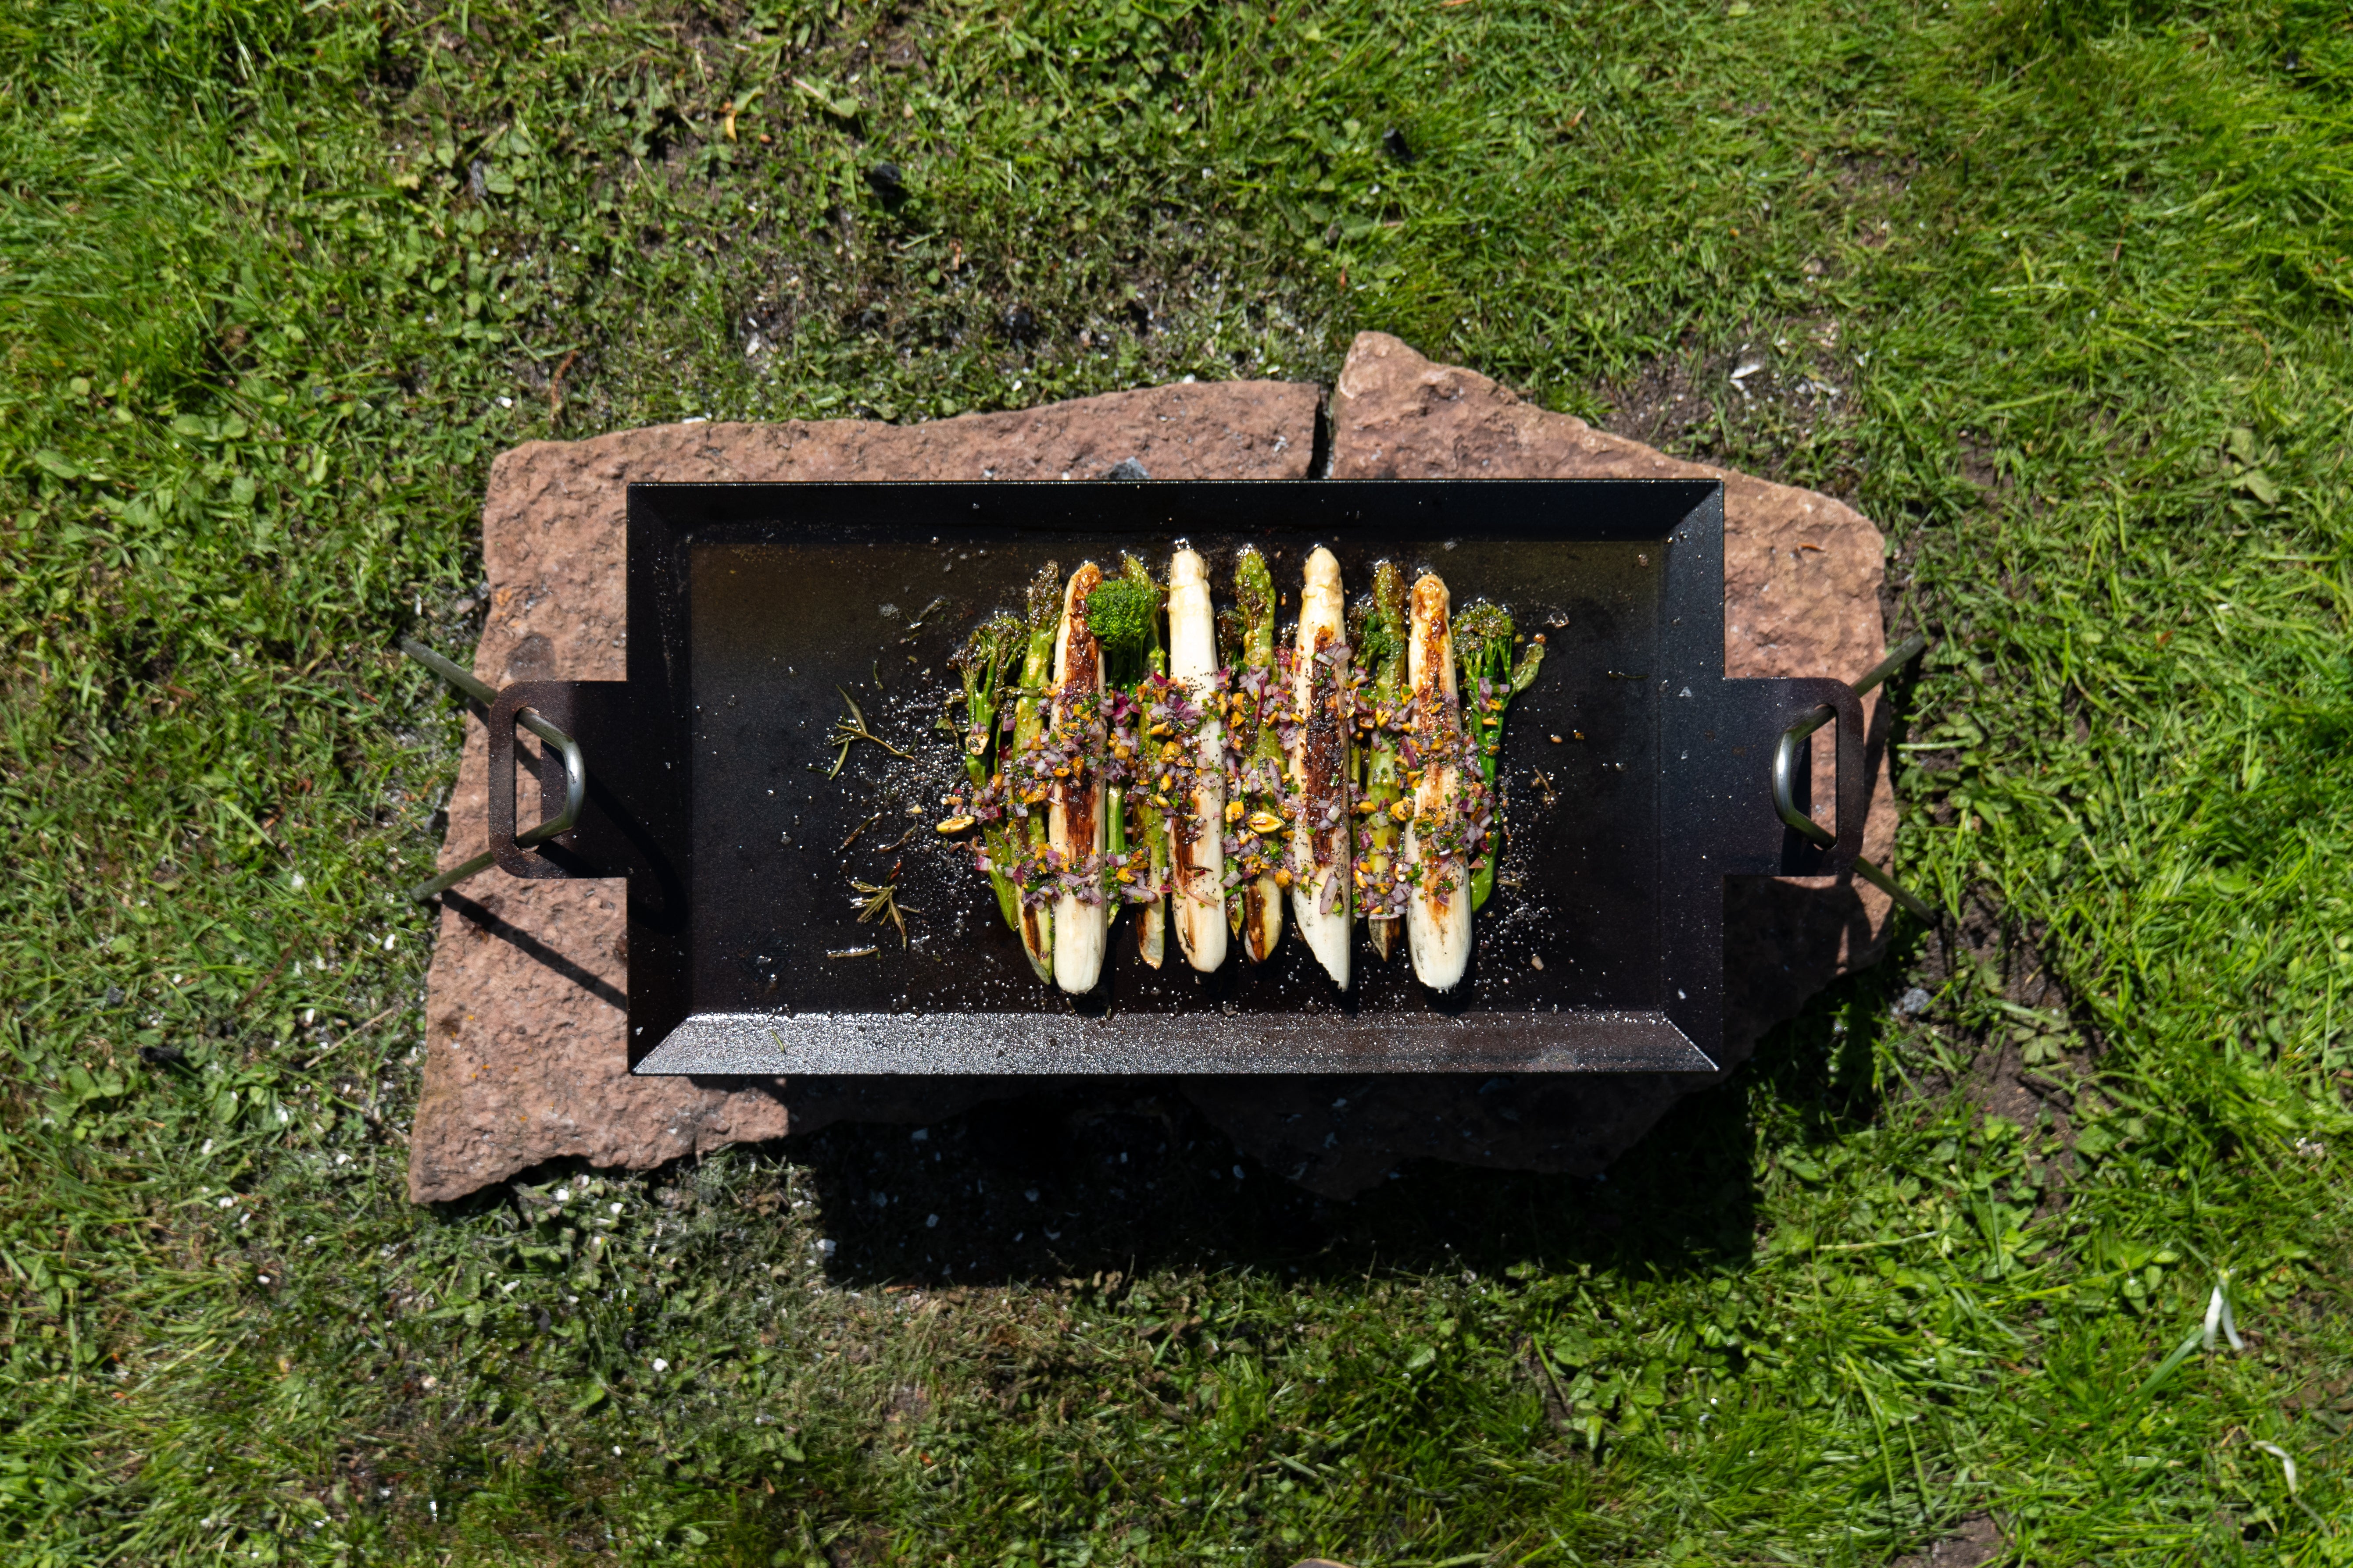
<svg viewBox="0 0 2353 1568">
<path fill-rule="evenodd" d="M 842 496 L 861 489 L 868 505 Z M 692 1013 L 1532 1023 L 1661 1009 L 1666 541 L 1697 487 L 1609 487 L 1607 498 L 1478 484 L 887 489 L 889 505 L 873 505 L 873 487 L 760 487 L 680 531 L 673 571 L 687 609 L 673 670 L 692 708 Z M 1268 489 L 1329 498 L 1282 508 Z M 1344 489 L 1424 494 L 1332 505 Z M 1068 574 L 1132 550 L 1165 571 L 1179 538 L 1209 559 L 1221 604 L 1235 552 L 1252 543 L 1285 590 L 1287 621 L 1304 557 L 1327 545 L 1351 597 L 1386 557 L 1445 576 L 1457 609 L 1494 599 L 1522 635 L 1546 635 L 1544 675 L 1511 710 L 1499 884 L 1454 992 L 1414 983 L 1402 943 L 1377 964 L 1362 926 L 1348 992 L 1297 938 L 1264 966 L 1233 954 L 1209 976 L 1172 940 L 1155 971 L 1125 917 L 1101 987 L 1071 999 L 1035 978 L 986 879 L 934 832 L 941 797 L 962 783 L 955 738 L 939 726 L 955 691 L 948 654 L 984 616 L 1019 609 L 1040 564 Z M 831 773 L 845 693 L 908 757 L 861 741 Z M 906 943 L 892 924 L 859 922 L 854 882 L 896 884 Z"/>
</svg>

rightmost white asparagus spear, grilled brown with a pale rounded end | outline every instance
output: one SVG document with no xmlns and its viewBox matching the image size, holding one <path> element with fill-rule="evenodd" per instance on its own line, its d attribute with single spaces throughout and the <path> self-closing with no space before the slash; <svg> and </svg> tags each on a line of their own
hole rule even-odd
<svg viewBox="0 0 2353 1568">
<path fill-rule="evenodd" d="M 1419 769 L 1414 816 L 1405 827 L 1412 891 L 1405 936 L 1414 978 L 1435 992 L 1454 990 L 1471 961 L 1471 889 L 1461 818 L 1461 719 L 1454 696 L 1452 599 L 1435 571 L 1421 574 L 1412 595 L 1407 682 L 1414 719 L 1405 741 L 1407 778 Z"/>
</svg>

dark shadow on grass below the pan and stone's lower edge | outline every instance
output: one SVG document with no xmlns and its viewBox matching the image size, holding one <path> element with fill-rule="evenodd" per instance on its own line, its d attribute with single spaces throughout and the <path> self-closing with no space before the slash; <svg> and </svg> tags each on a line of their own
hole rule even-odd
<svg viewBox="0 0 2353 1568">
<path fill-rule="evenodd" d="M 1174 1086 L 1054 1091 L 927 1128 L 842 1124 L 776 1150 L 814 1185 L 838 1284 L 1059 1284 L 1247 1269 L 1708 1272 L 1755 1237 L 1739 1077 L 1699 1091 L 1607 1175 L 1412 1161 L 1355 1199 L 1268 1173 Z"/>
</svg>

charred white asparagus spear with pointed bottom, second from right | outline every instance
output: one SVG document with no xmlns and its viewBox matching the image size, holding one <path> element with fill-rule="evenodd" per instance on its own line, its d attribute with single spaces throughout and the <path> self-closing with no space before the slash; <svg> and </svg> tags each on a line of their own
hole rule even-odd
<svg viewBox="0 0 2353 1568">
<path fill-rule="evenodd" d="M 1339 562 L 1318 548 L 1299 592 L 1299 654 L 1292 663 L 1292 919 L 1332 983 L 1348 987 L 1348 736 L 1355 691 L 1348 686 L 1348 602 Z"/>
</svg>

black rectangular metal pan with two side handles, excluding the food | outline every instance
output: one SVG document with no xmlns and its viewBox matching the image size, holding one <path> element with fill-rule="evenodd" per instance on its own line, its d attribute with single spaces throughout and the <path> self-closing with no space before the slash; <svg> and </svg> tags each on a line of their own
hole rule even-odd
<svg viewBox="0 0 2353 1568">
<path fill-rule="evenodd" d="M 1511 708 L 1508 842 L 1466 980 L 1426 992 L 1358 926 L 1339 992 L 1294 933 L 1212 976 L 1113 929 L 1104 983 L 1040 983 L 934 830 L 962 783 L 948 654 L 1045 562 L 1165 571 L 1221 602 L 1242 543 L 1287 616 L 1327 545 L 1494 599 L 1548 658 Z M 1687 480 L 631 484 L 628 679 L 492 708 L 492 846 L 520 877 L 628 877 L 631 1065 L 647 1074 L 1706 1072 L 1722 879 L 1817 875 L 1861 839 L 1861 705 L 1835 679 L 1725 679 L 1722 487 Z M 885 745 L 835 724 L 854 698 Z M 576 741 L 576 823 L 515 842 L 515 722 Z M 1835 844 L 1774 809 L 1786 731 L 1838 719 Z M 828 776 L 831 773 L 831 776 Z M 1802 790 L 1809 769 L 1793 769 Z M 541 809 L 565 809 L 565 759 Z M 525 835 L 529 839 L 532 835 Z M 852 882 L 896 884 L 906 943 Z M 875 947 L 871 954 L 859 954 Z M 828 957 L 854 954 L 854 957 Z"/>
</svg>

